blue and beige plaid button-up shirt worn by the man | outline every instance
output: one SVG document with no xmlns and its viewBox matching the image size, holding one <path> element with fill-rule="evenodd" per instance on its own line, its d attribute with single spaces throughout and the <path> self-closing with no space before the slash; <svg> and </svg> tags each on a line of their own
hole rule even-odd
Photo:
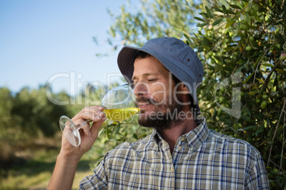
<svg viewBox="0 0 286 190">
<path fill-rule="evenodd" d="M 171 154 L 159 133 L 107 152 L 80 189 L 269 189 L 260 152 L 208 130 L 206 119 Z"/>
</svg>

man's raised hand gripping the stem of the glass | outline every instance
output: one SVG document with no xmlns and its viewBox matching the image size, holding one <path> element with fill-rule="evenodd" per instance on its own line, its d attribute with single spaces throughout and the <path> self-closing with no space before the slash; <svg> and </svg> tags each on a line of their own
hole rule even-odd
<svg viewBox="0 0 286 190">
<path fill-rule="evenodd" d="M 106 119 L 105 113 L 102 112 L 103 110 L 104 108 L 101 106 L 86 107 L 72 118 L 72 121 L 75 123 L 75 125 L 83 123 L 84 121 L 91 120 L 93 121 L 92 127 L 90 128 L 90 124 L 81 126 L 79 130 L 81 143 L 78 147 L 70 145 L 68 140 L 66 140 L 65 135 L 63 135 L 60 155 L 68 158 L 68 160 L 80 160 L 80 157 L 82 157 L 85 152 L 90 150 L 92 145 L 95 143 L 95 140 L 97 139 L 100 126 Z M 68 130 L 68 128 L 65 129 Z M 63 134 L 64 133 L 65 130 L 63 131 Z"/>
</svg>

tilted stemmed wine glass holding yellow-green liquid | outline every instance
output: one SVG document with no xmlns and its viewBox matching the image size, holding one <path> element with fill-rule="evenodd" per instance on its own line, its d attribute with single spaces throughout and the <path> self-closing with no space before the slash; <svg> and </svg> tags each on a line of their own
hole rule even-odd
<svg viewBox="0 0 286 190">
<path fill-rule="evenodd" d="M 123 84 L 108 91 L 102 99 L 101 106 L 105 108 L 103 112 L 110 122 L 124 121 L 140 110 L 135 106 L 133 89 L 129 84 Z M 61 116 L 60 130 L 71 145 L 78 147 L 80 145 L 79 130 L 90 122 L 91 120 L 88 120 L 75 125 L 67 116 Z"/>
</svg>

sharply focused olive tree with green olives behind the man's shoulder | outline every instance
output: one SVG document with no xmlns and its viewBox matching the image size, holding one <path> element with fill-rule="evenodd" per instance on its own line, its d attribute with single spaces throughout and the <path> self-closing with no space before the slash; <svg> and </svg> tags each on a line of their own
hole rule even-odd
<svg viewBox="0 0 286 190">
<path fill-rule="evenodd" d="M 216 10 L 213 13 L 210 9 Z M 206 58 L 208 78 L 205 84 L 216 84 L 239 72 L 241 84 L 241 116 L 229 118 L 213 112 L 210 123 L 222 124 L 223 133 L 247 140 L 260 150 L 268 166 L 273 189 L 286 186 L 285 139 L 285 4 L 282 1 L 241 1 L 226 6 L 206 7 L 201 13 L 208 23 L 195 34 L 198 52 Z M 203 33 L 205 32 L 205 33 Z M 190 40 L 191 42 L 191 40 Z M 210 78 L 212 77 L 212 78 Z M 216 79 L 216 80 L 214 80 Z M 211 85 L 209 85 L 211 86 Z M 233 85 L 234 87 L 234 85 Z M 206 86 L 206 89 L 210 90 Z M 231 85 L 220 90 L 227 100 L 221 104 L 230 108 Z M 214 91 L 216 94 L 216 91 Z"/>
</svg>

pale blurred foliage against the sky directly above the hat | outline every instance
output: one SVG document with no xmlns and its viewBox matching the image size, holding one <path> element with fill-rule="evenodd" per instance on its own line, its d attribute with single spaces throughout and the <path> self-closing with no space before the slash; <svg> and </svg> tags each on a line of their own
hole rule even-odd
<svg viewBox="0 0 286 190">
<path fill-rule="evenodd" d="M 190 24 L 194 22 L 192 15 L 198 9 L 198 4 L 194 1 L 158 0 L 150 3 L 148 0 L 142 0 L 141 3 L 142 10 L 137 12 L 131 11 L 136 10 L 135 7 L 127 11 L 125 5 L 121 7 L 120 16 L 110 12 L 115 21 L 109 30 L 111 38 L 119 35 L 125 45 L 142 46 L 144 42 L 157 36 L 181 37 L 181 31 L 174 28 L 185 28 L 189 32 L 194 30 L 194 25 Z M 112 43 L 112 39 L 109 41 L 111 45 L 117 47 L 117 44 Z"/>
</svg>

